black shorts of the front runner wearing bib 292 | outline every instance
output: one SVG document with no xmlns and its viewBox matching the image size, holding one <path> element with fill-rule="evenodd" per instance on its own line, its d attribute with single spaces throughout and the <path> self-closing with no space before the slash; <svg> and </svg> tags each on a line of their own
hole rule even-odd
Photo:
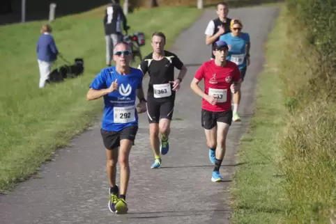
<svg viewBox="0 0 336 224">
<path fill-rule="evenodd" d="M 105 129 L 100 129 L 100 134 L 102 134 L 102 142 L 107 150 L 113 150 L 120 146 L 120 141 L 123 139 L 128 139 L 135 142 L 135 136 L 137 135 L 138 126 L 132 125 L 125 127 L 121 131 L 106 131 Z"/>
</svg>

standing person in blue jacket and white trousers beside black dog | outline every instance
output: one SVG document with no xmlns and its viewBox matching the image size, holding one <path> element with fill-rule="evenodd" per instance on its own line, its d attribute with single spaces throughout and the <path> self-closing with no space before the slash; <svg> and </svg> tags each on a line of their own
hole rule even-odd
<svg viewBox="0 0 336 224">
<path fill-rule="evenodd" d="M 52 38 L 52 27 L 49 24 L 44 24 L 41 29 L 40 38 L 36 47 L 38 53 L 38 68 L 40 70 L 40 88 L 45 87 L 45 82 L 49 78 L 52 70 L 52 62 L 56 61 L 59 51 Z"/>
</svg>

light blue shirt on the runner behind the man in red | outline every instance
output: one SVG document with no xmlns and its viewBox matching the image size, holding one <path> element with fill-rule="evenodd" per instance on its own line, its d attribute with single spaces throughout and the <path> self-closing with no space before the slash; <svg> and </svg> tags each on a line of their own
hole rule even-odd
<svg viewBox="0 0 336 224">
<path fill-rule="evenodd" d="M 227 60 L 236 63 L 239 70 L 245 68 L 247 66 L 245 60 L 246 44 L 250 42 L 250 35 L 242 32 L 240 36 L 234 37 L 232 33 L 226 33 L 220 36 L 220 40 L 227 42 L 227 45 L 229 45 Z"/>
</svg>

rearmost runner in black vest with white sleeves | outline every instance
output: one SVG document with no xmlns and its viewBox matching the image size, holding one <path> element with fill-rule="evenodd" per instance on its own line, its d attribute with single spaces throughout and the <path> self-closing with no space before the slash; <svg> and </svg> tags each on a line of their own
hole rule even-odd
<svg viewBox="0 0 336 224">
<path fill-rule="evenodd" d="M 211 46 L 211 59 L 214 59 L 213 55 L 213 45 L 217 40 L 220 39 L 220 35 L 225 33 L 230 33 L 230 23 L 231 19 L 227 18 L 229 13 L 229 6 L 226 2 L 220 2 L 217 4 L 217 19 L 213 19 L 206 26 L 206 45 Z"/>
</svg>

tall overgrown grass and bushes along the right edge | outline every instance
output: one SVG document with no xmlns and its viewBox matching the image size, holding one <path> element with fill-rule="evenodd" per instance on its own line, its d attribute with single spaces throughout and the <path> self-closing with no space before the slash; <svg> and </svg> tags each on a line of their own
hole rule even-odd
<svg viewBox="0 0 336 224">
<path fill-rule="evenodd" d="M 290 113 L 281 165 L 287 223 L 330 223 L 336 218 L 336 1 L 286 5 L 282 93 Z"/>
</svg>

